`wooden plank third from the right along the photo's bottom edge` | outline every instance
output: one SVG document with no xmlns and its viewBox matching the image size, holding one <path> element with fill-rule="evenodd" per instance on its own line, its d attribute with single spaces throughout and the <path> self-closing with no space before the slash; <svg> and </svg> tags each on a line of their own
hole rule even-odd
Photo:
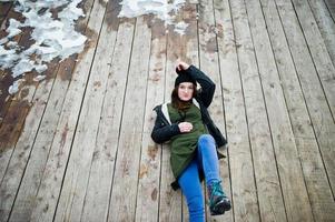
<svg viewBox="0 0 335 222">
<path fill-rule="evenodd" d="M 247 12 L 243 1 L 230 6 L 262 221 L 286 221 Z"/>
</svg>

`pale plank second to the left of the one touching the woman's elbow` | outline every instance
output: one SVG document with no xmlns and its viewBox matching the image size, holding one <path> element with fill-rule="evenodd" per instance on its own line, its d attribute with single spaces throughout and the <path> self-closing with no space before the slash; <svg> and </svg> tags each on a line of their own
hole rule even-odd
<svg viewBox="0 0 335 222">
<path fill-rule="evenodd" d="M 82 220 L 85 221 L 106 221 L 109 205 L 114 205 L 109 199 L 112 190 L 111 185 L 115 174 L 116 155 L 118 153 L 122 105 L 128 79 L 127 70 L 129 69 L 129 57 L 132 49 L 131 42 L 134 39 L 134 29 L 135 20 L 124 20 L 118 28 L 117 42 L 109 69 L 107 91 L 104 99 L 97 144 L 95 145 L 90 178 L 82 211 Z M 128 47 L 125 48 L 125 46 Z M 99 181 L 99 183 L 97 183 L 97 181 Z"/>
</svg>

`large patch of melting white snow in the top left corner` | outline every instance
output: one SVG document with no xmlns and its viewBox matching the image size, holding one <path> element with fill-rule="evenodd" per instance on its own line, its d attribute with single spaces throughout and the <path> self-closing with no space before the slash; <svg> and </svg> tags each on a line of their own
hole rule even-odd
<svg viewBox="0 0 335 222">
<path fill-rule="evenodd" d="M 75 30 L 76 20 L 85 16 L 77 7 L 81 1 L 17 0 L 14 10 L 22 13 L 24 21 L 9 20 L 9 27 L 6 29 L 8 34 L 0 39 L 0 68 L 10 69 L 14 78 L 32 70 L 42 74 L 48 68 L 48 62 L 55 58 L 63 60 L 73 53 L 80 53 L 87 40 Z M 50 10 L 56 8 L 59 8 L 58 14 L 57 18 L 52 18 Z M 13 41 L 13 37 L 27 27 L 32 29 L 33 43 L 28 49 L 22 49 Z M 16 92 L 17 89 L 18 87 L 12 85 L 11 92 Z"/>
</svg>

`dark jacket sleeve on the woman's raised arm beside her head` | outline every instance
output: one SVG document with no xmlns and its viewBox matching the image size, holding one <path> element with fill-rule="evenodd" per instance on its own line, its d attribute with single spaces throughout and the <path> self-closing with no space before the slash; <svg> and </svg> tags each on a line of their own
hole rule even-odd
<svg viewBox="0 0 335 222">
<path fill-rule="evenodd" d="M 189 65 L 186 72 L 200 84 L 201 89 L 199 90 L 198 98 L 203 101 L 204 105 L 208 108 L 213 101 L 215 83 L 193 64 Z"/>
</svg>

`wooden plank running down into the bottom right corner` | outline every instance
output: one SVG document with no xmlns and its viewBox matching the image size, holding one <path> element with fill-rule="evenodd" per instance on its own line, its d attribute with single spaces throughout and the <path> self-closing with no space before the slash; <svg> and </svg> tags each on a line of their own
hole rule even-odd
<svg viewBox="0 0 335 222">
<path fill-rule="evenodd" d="M 275 1 L 262 0 L 315 221 L 334 219 L 334 199 Z"/>
</svg>

